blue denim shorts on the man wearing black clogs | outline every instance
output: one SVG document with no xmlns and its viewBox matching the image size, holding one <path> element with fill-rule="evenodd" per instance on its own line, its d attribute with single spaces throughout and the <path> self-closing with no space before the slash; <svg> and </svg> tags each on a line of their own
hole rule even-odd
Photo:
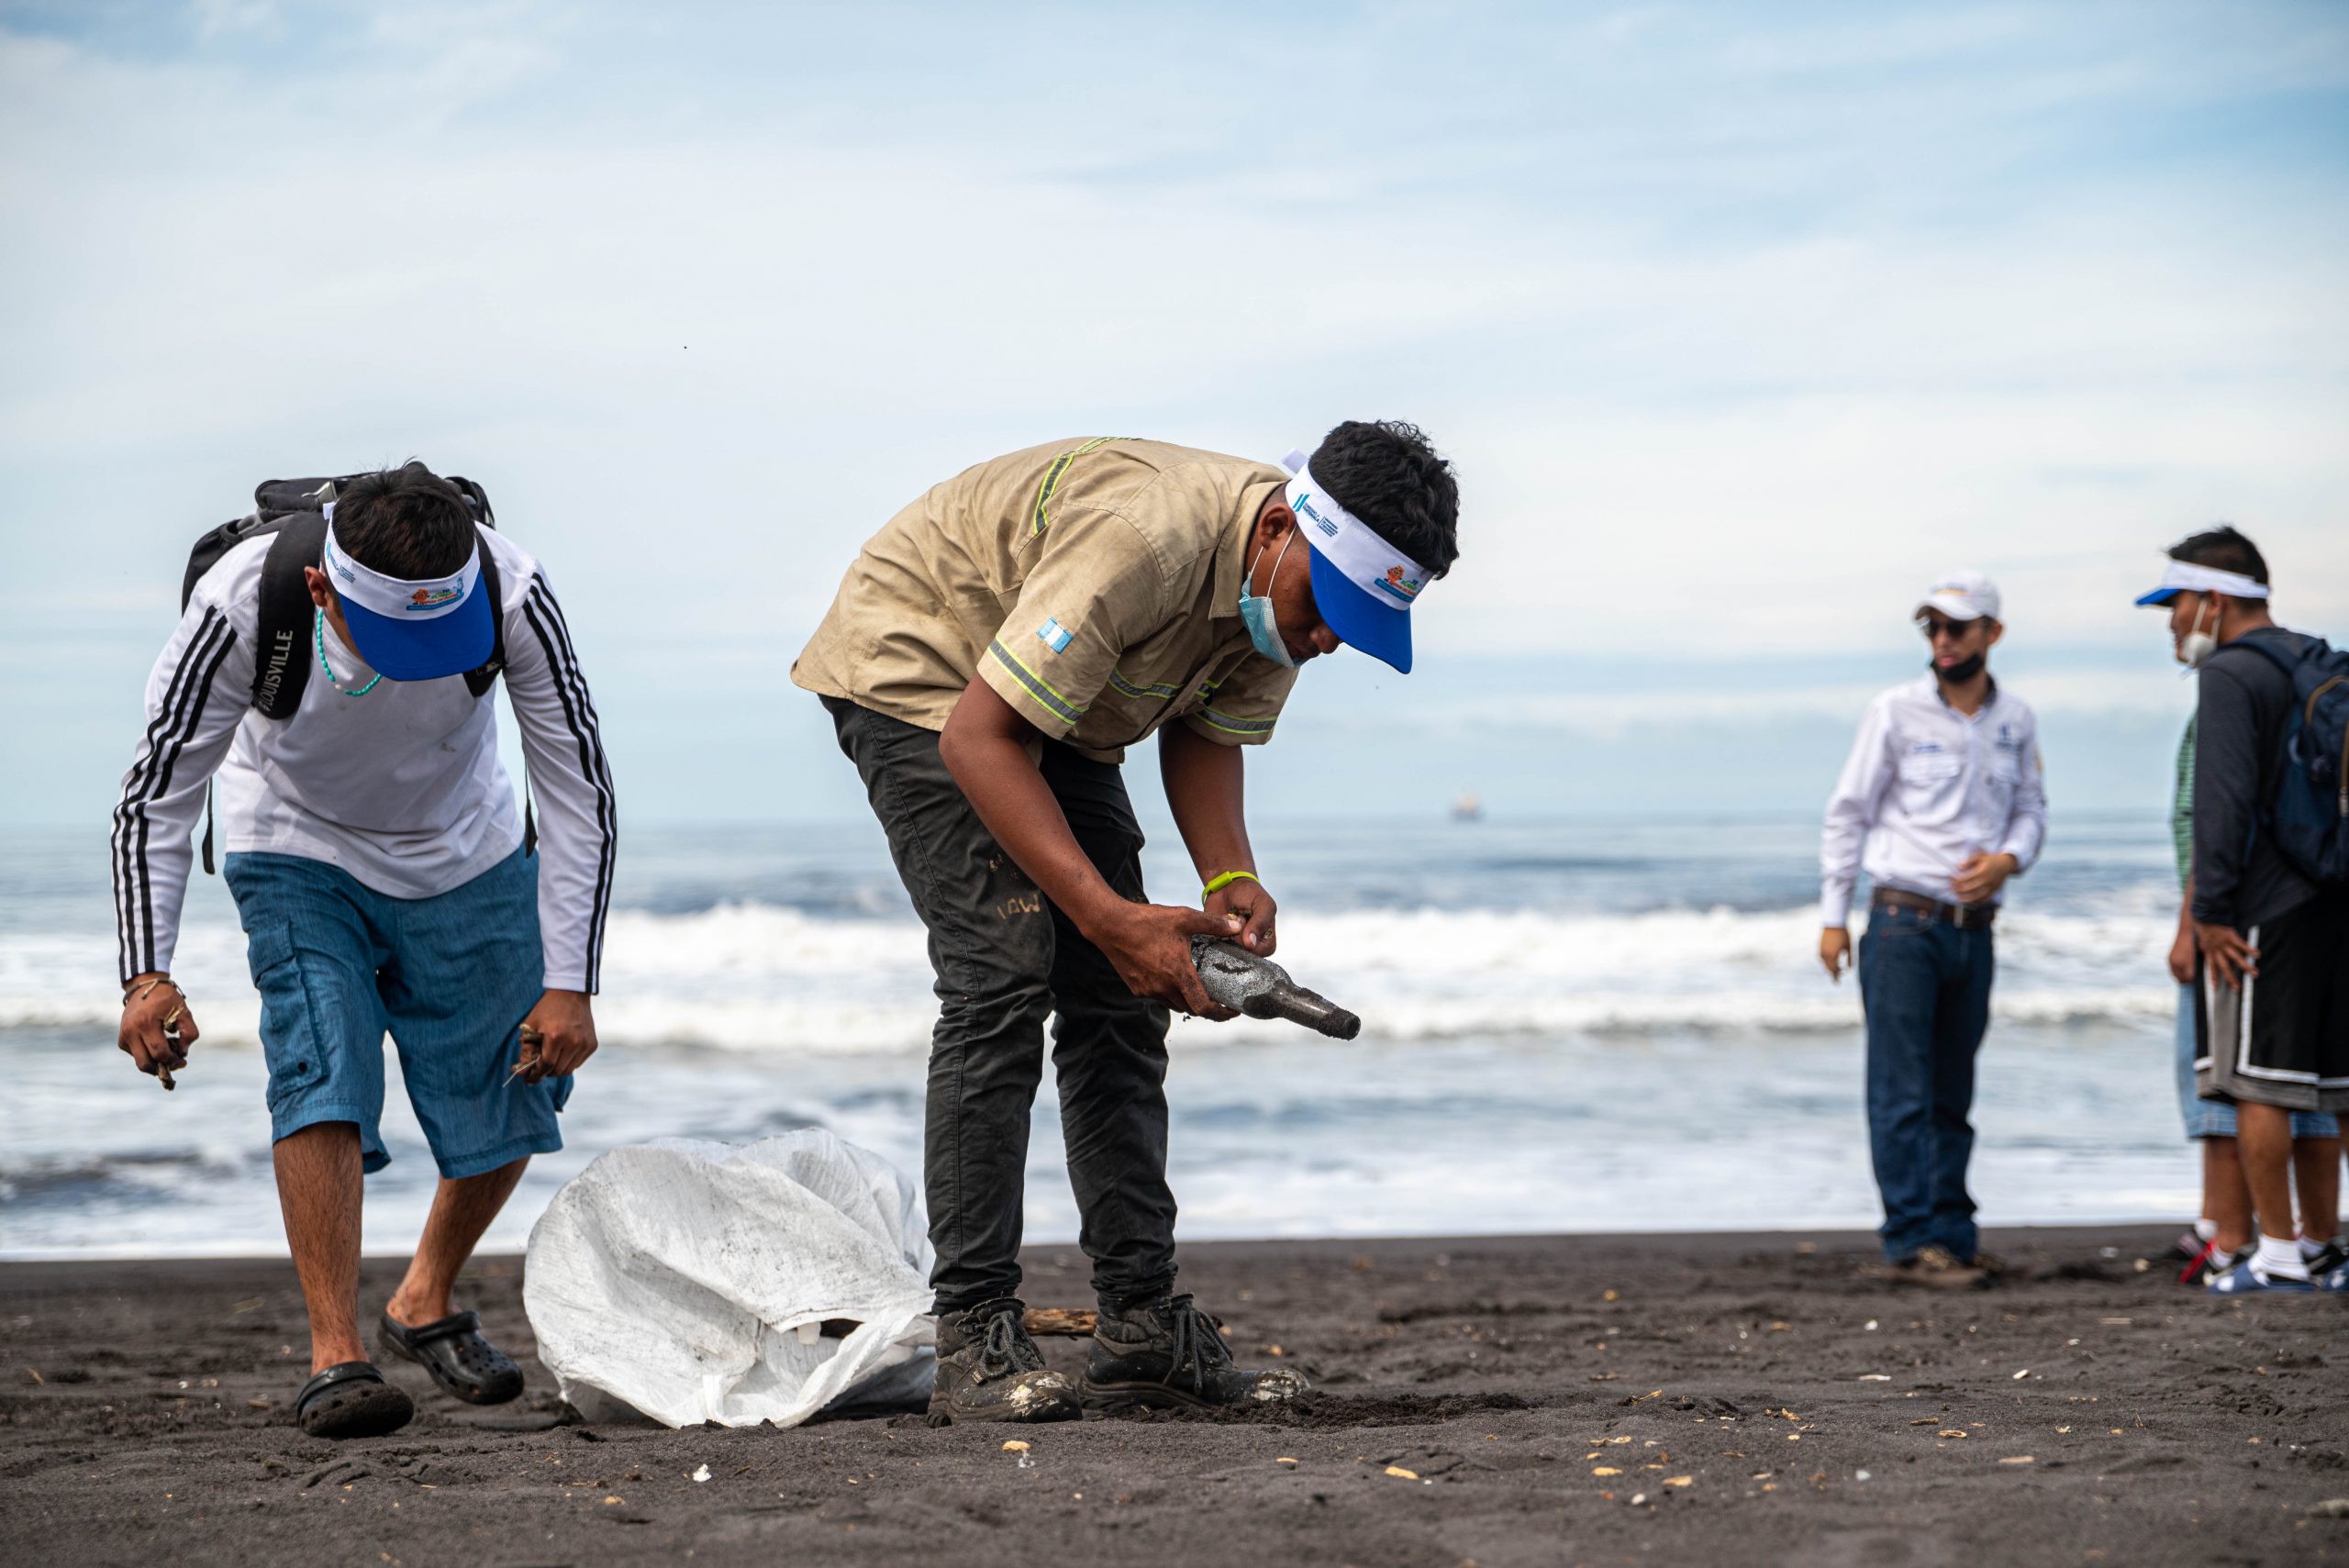
<svg viewBox="0 0 2349 1568">
<path fill-rule="evenodd" d="M 519 850 L 463 887 L 392 899 L 298 854 L 228 857 L 261 991 L 270 1138 L 357 1122 L 369 1171 L 390 1164 L 383 1035 L 442 1176 L 479 1176 L 564 1145 L 568 1077 L 507 1082 L 545 991 L 538 861 Z"/>
</svg>

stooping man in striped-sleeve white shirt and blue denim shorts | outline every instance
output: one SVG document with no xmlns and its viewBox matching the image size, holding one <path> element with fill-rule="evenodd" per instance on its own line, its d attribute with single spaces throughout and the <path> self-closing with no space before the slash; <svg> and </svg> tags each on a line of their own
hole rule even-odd
<svg viewBox="0 0 2349 1568">
<path fill-rule="evenodd" d="M 594 1052 L 615 819 L 561 608 L 538 561 L 477 523 L 479 488 L 411 462 L 310 498 L 324 514 L 204 570 L 148 678 L 113 833 L 120 1045 L 167 1087 L 188 1066 L 197 1026 L 171 951 L 190 829 L 218 775 L 310 1310 L 296 1415 L 319 1437 L 369 1437 L 411 1415 L 357 1329 L 362 1171 L 390 1160 L 383 1035 L 442 1183 L 378 1343 L 498 1404 L 521 1373 L 472 1312 L 449 1310 L 449 1286 L 529 1157 L 561 1148 L 557 1110 Z M 498 763 L 500 662 L 543 854 Z"/>
</svg>

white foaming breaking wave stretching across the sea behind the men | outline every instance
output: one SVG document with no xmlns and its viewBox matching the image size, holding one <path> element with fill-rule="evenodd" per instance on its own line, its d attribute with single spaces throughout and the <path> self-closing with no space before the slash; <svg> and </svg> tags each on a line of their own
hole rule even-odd
<svg viewBox="0 0 2349 1568">
<path fill-rule="evenodd" d="M 1994 1014 L 2025 1023 L 2166 1019 L 2170 922 L 2018 911 L 1999 927 Z M 1818 918 L 1783 911 L 1351 911 L 1299 915 L 1280 962 L 1386 1040 L 1842 1030 L 1858 988 L 1813 958 Z M 110 946 L 63 934 L 0 939 L 0 1028 L 110 1030 Z M 176 972 L 214 1045 L 251 1042 L 258 1002 L 242 937 L 195 927 Z M 780 1054 L 918 1052 L 935 1000 L 926 939 L 904 920 L 839 920 L 768 904 L 688 915 L 618 911 L 597 1026 L 611 1045 Z M 1301 1038 L 1287 1026 L 1186 1026 L 1182 1045 Z"/>
</svg>

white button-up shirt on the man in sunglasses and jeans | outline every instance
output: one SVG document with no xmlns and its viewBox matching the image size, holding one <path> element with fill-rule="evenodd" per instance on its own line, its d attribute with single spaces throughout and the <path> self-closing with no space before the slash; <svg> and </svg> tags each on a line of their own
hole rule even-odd
<svg viewBox="0 0 2349 1568">
<path fill-rule="evenodd" d="M 1917 676 L 1867 704 L 1818 845 L 1820 925 L 1851 918 L 1851 880 L 1952 901 L 1973 854 L 2013 854 L 2022 871 L 2046 840 L 2039 721 L 1997 683 L 1973 716 Z"/>
</svg>

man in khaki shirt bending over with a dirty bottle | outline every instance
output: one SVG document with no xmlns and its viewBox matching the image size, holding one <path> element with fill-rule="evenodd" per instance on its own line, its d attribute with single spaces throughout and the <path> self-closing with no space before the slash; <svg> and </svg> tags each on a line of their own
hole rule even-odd
<svg viewBox="0 0 2349 1568">
<path fill-rule="evenodd" d="M 832 711 L 930 930 L 933 1422 L 1304 1387 L 1233 1366 L 1174 1293 L 1167 1009 L 1229 1016 L 1191 937 L 1276 946 L 1243 746 L 1271 739 L 1313 657 L 1353 646 L 1409 671 L 1412 606 L 1449 570 L 1456 516 L 1449 465 L 1409 425 L 1348 420 L 1283 467 L 1092 437 L 933 486 L 848 568 L 792 678 Z M 1142 892 L 1118 763 L 1153 735 L 1198 908 Z M 1017 1298 L 1048 1014 L 1102 1303 L 1081 1385 L 1045 1368 Z"/>
</svg>

